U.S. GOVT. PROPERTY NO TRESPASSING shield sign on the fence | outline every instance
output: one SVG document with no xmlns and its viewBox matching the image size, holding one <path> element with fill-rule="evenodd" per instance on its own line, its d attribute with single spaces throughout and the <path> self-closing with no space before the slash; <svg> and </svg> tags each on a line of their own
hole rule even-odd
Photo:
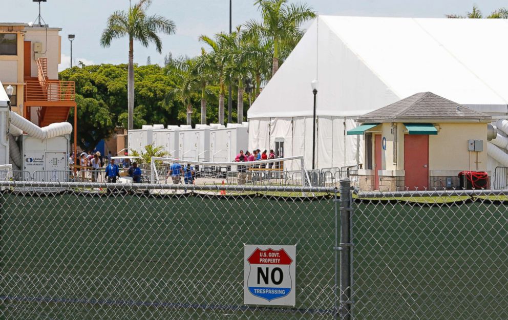
<svg viewBox="0 0 508 320">
<path fill-rule="evenodd" d="M 294 306 L 295 246 L 245 245 L 244 303 Z"/>
</svg>

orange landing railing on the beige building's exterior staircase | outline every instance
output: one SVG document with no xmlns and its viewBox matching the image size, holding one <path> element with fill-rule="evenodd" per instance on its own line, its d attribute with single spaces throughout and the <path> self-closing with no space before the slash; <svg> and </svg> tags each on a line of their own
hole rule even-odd
<svg viewBox="0 0 508 320">
<path fill-rule="evenodd" d="M 25 83 L 25 101 L 74 102 L 74 81 L 46 80 L 45 86 L 39 81 Z"/>
</svg>

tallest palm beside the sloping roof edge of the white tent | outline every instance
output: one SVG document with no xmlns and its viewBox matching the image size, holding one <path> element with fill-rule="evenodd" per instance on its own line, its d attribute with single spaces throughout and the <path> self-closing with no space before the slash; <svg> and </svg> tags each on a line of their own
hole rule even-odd
<svg viewBox="0 0 508 320">
<path fill-rule="evenodd" d="M 293 48 L 303 35 L 300 25 L 316 17 L 305 4 L 288 4 L 288 0 L 256 0 L 263 22 L 250 20 L 245 24 L 249 38 L 262 36 L 273 44 L 272 76 L 279 70 L 281 47 Z"/>
</svg>

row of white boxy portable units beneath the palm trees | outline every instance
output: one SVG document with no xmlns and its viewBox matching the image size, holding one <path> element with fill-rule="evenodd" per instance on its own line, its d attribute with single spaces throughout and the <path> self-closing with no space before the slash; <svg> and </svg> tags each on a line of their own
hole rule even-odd
<svg viewBox="0 0 508 320">
<path fill-rule="evenodd" d="M 232 162 L 248 145 L 248 122 L 190 125 L 143 125 L 130 130 L 129 150 L 145 152 L 145 146 L 162 146 L 167 157 L 182 161 Z"/>
</svg>

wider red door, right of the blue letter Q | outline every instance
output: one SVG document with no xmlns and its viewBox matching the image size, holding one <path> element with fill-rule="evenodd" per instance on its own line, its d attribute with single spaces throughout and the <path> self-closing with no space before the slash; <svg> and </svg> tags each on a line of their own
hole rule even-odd
<svg viewBox="0 0 508 320">
<path fill-rule="evenodd" d="M 429 187 L 429 136 L 404 135 L 405 185 L 409 190 Z"/>
</svg>

